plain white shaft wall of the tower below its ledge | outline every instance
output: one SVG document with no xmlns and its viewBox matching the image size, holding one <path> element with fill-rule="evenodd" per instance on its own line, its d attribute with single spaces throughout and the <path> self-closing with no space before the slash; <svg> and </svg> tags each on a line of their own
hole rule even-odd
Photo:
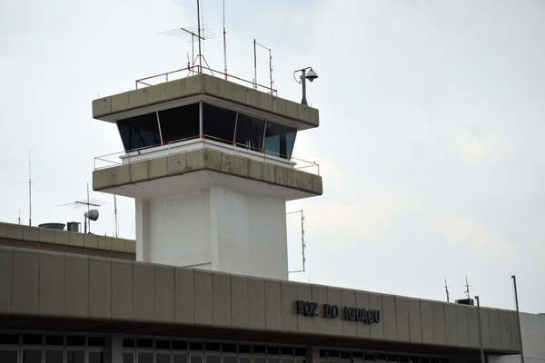
<svg viewBox="0 0 545 363">
<path fill-rule="evenodd" d="M 282 197 L 216 183 L 137 198 L 136 226 L 136 260 L 288 280 Z"/>
</svg>

